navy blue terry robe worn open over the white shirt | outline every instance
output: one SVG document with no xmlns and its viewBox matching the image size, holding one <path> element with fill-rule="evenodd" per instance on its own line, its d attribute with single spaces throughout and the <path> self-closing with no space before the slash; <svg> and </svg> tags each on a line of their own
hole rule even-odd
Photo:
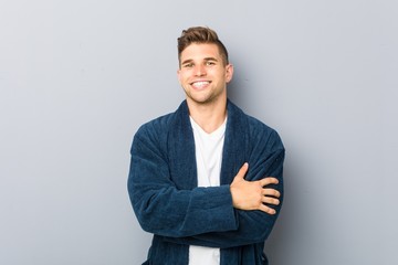
<svg viewBox="0 0 398 265">
<path fill-rule="evenodd" d="M 221 248 L 221 265 L 268 264 L 263 254 L 277 214 L 233 209 L 230 183 L 244 162 L 247 180 L 279 179 L 284 148 L 275 130 L 228 102 L 220 187 L 197 187 L 188 106 L 143 125 L 132 145 L 128 192 L 142 227 L 154 234 L 145 264 L 187 265 L 189 245 Z"/>
</svg>

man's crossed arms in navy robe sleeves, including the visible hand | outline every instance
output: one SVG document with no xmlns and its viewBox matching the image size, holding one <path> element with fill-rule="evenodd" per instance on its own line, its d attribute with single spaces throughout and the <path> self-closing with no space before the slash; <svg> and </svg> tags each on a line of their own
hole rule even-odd
<svg viewBox="0 0 398 265">
<path fill-rule="evenodd" d="M 244 163 L 229 186 L 179 190 L 156 145 L 136 139 L 128 191 L 137 219 L 145 231 L 180 244 L 231 247 L 263 242 L 280 206 L 283 156 L 283 149 L 276 150 L 254 163 L 252 171 L 264 169 L 250 180 Z M 276 178 L 264 178 L 273 174 Z"/>
</svg>

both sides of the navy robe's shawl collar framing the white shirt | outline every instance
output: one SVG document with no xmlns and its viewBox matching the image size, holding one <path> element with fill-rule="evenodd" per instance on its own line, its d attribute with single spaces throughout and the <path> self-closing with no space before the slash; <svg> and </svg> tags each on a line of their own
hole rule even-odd
<svg viewBox="0 0 398 265">
<path fill-rule="evenodd" d="M 228 121 L 220 184 L 230 184 L 239 169 L 248 161 L 248 119 L 233 103 L 228 100 Z M 187 102 L 176 112 L 168 136 L 170 176 L 178 189 L 190 190 L 198 186 L 193 131 L 189 120 Z"/>
</svg>

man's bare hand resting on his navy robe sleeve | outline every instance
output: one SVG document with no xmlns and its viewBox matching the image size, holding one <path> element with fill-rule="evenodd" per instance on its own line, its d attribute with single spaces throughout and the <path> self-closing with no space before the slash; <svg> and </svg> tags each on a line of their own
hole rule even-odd
<svg viewBox="0 0 398 265">
<path fill-rule="evenodd" d="M 230 190 L 232 203 L 235 209 L 240 210 L 260 210 L 269 214 L 275 214 L 276 211 L 264 203 L 277 205 L 281 193 L 275 189 L 265 189 L 265 186 L 277 184 L 275 178 L 266 177 L 256 181 L 247 181 L 244 176 L 248 172 L 249 163 L 244 163 L 238 174 L 234 177 Z"/>
</svg>

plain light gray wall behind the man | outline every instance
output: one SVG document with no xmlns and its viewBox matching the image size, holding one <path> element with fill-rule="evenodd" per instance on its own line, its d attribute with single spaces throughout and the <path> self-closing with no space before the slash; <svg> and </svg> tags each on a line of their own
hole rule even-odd
<svg viewBox="0 0 398 265">
<path fill-rule="evenodd" d="M 273 265 L 397 264 L 396 1 L 0 2 L 0 264 L 139 264 L 132 137 L 184 98 L 176 39 L 216 29 L 231 98 L 279 130 Z"/>
</svg>

